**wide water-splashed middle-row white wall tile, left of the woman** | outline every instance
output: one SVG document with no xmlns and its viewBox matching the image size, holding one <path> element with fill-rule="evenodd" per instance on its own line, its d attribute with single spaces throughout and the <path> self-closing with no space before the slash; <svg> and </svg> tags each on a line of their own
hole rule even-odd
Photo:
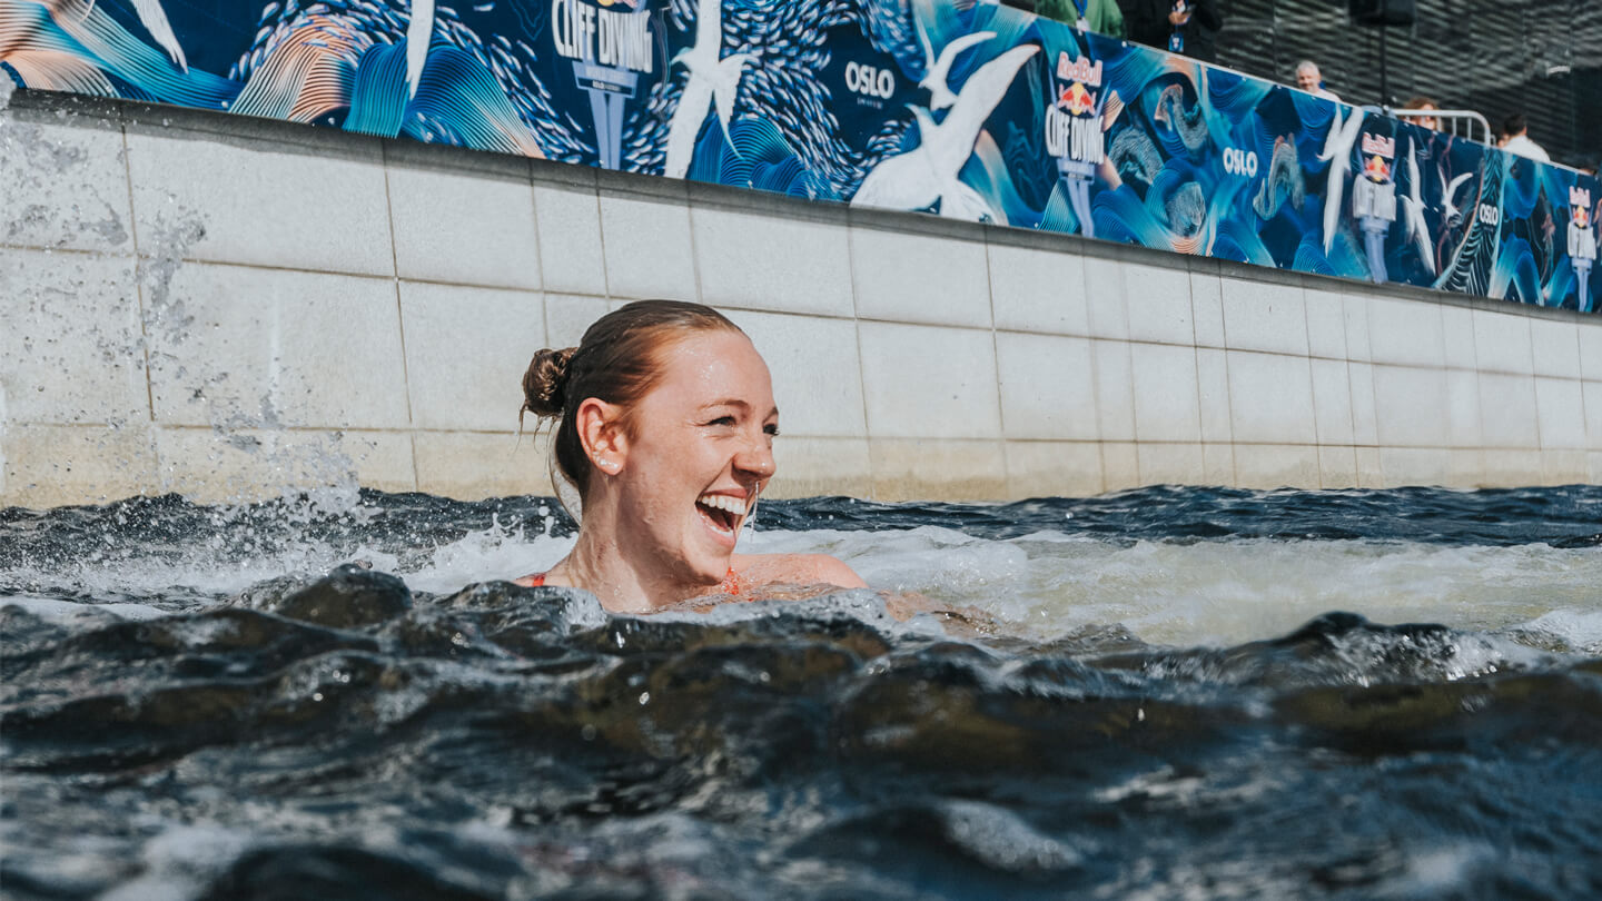
<svg viewBox="0 0 1602 901">
<path fill-rule="evenodd" d="M 394 281 L 186 263 L 165 298 L 149 335 L 157 423 L 410 425 Z"/>
</svg>

